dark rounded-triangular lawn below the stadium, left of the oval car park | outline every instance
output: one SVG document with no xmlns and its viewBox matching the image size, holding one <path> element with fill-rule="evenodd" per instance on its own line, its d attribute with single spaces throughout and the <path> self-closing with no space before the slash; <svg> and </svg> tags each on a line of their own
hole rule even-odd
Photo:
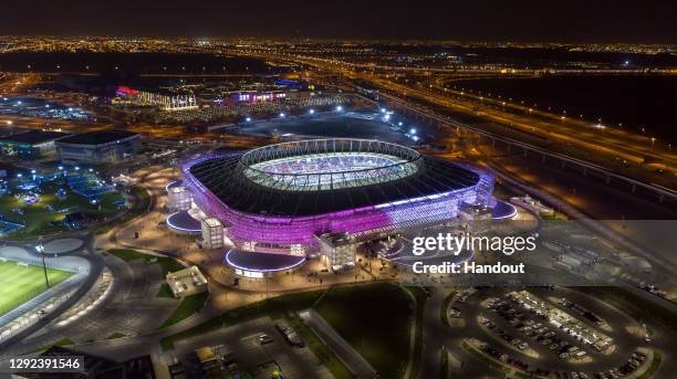
<svg viewBox="0 0 677 379">
<path fill-rule="evenodd" d="M 382 378 L 402 378 L 409 360 L 413 302 L 387 283 L 331 288 L 315 309 Z"/>
</svg>

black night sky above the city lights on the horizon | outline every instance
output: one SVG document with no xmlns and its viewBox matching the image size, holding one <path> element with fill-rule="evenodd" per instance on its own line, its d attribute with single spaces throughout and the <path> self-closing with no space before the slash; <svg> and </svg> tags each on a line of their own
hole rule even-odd
<svg viewBox="0 0 677 379">
<path fill-rule="evenodd" d="M 2 1 L 0 34 L 677 43 L 677 1 Z"/>
</svg>

